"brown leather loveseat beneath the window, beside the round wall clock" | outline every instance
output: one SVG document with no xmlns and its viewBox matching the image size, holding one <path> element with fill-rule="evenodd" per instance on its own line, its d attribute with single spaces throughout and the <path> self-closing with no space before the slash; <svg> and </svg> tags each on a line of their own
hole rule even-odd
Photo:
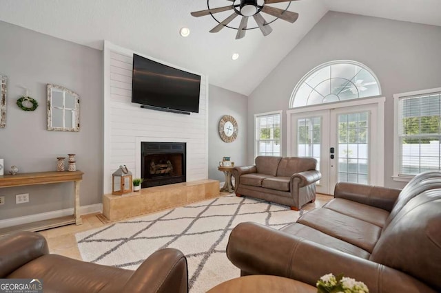
<svg viewBox="0 0 441 293">
<path fill-rule="evenodd" d="M 258 156 L 255 162 L 233 169 L 237 196 L 265 199 L 293 210 L 316 200 L 315 182 L 322 177 L 316 159 Z"/>
</svg>

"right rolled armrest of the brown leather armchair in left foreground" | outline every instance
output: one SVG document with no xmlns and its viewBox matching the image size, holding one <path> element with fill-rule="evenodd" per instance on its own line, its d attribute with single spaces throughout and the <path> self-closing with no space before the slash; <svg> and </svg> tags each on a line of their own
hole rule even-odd
<svg viewBox="0 0 441 293">
<path fill-rule="evenodd" d="M 188 292 L 187 259 L 174 248 L 157 250 L 124 286 L 125 292 Z"/>
</svg>

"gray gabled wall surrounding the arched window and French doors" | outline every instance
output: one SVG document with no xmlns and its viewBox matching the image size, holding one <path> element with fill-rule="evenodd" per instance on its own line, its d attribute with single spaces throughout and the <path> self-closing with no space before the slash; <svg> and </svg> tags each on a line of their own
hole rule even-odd
<svg viewBox="0 0 441 293">
<path fill-rule="evenodd" d="M 295 25 L 295 24 L 294 24 Z M 385 104 L 384 185 L 402 187 L 393 175 L 393 94 L 441 87 L 441 28 L 376 17 L 328 12 L 249 96 L 254 113 L 286 111 L 302 76 L 328 61 L 349 59 L 367 65 L 380 80 Z M 254 161 L 253 132 L 247 135 L 248 162 Z M 283 150 L 286 155 L 286 149 Z"/>
</svg>

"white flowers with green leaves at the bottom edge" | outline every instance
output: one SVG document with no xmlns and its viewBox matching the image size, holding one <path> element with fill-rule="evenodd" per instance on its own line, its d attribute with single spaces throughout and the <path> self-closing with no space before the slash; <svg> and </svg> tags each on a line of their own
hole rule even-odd
<svg viewBox="0 0 441 293">
<path fill-rule="evenodd" d="M 369 293 L 365 283 L 347 278 L 343 274 L 337 277 L 334 274 L 325 274 L 320 277 L 316 286 L 317 293 Z"/>
</svg>

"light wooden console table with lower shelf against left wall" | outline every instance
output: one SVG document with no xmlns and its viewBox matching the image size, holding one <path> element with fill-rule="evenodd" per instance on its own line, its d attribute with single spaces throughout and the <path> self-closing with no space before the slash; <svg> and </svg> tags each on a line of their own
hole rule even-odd
<svg viewBox="0 0 441 293">
<path fill-rule="evenodd" d="M 80 207 L 80 182 L 83 180 L 83 172 L 37 172 L 37 173 L 19 173 L 16 175 L 0 176 L 0 188 L 28 186 L 36 184 L 50 184 L 61 182 L 74 182 L 74 215 L 35 221 L 28 224 L 11 226 L 0 229 L 0 236 L 17 231 L 40 231 L 49 228 L 64 226 L 68 224 L 81 225 L 83 221 L 79 215 Z"/>
</svg>

